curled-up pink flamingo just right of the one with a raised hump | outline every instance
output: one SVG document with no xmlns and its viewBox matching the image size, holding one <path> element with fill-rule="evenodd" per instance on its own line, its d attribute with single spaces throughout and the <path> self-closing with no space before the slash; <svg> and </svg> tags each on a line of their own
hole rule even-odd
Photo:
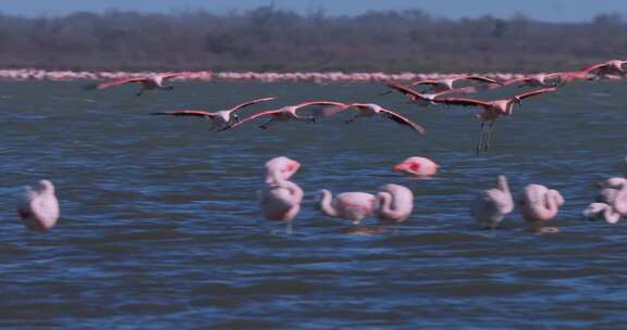
<svg viewBox="0 0 627 330">
<path fill-rule="evenodd" d="M 542 185 L 528 185 L 518 200 L 522 217 L 540 232 L 543 231 L 541 224 L 555 218 L 562 205 L 564 205 L 562 194 Z"/>
</svg>

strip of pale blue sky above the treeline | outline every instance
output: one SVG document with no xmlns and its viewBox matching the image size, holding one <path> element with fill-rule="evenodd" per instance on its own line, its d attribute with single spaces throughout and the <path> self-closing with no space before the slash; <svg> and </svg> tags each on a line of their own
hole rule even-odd
<svg viewBox="0 0 627 330">
<path fill-rule="evenodd" d="M 224 13 L 271 3 L 280 9 L 302 13 L 322 8 L 333 15 L 419 8 L 435 16 L 451 18 L 485 14 L 509 17 L 516 12 L 536 20 L 554 22 L 590 21 L 598 14 L 612 12 L 627 16 L 627 0 L 5 0 L 1 3 L 1 12 L 27 16 L 107 9 L 144 12 L 205 9 Z"/>
</svg>

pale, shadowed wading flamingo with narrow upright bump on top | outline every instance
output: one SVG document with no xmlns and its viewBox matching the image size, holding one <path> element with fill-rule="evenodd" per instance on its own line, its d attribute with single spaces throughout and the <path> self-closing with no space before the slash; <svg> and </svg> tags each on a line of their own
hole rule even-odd
<svg viewBox="0 0 627 330">
<path fill-rule="evenodd" d="M 470 213 L 481 228 L 494 230 L 505 215 L 514 210 L 514 200 L 507 177 L 500 175 L 496 178 L 496 188 L 479 192 L 472 203 Z"/>
</svg>

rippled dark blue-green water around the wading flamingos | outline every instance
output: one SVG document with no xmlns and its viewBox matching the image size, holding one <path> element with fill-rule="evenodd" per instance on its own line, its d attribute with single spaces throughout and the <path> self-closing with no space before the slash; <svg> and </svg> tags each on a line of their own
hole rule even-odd
<svg viewBox="0 0 627 330">
<path fill-rule="evenodd" d="M 176 84 L 84 93 L 79 82 L 1 82 L 0 326 L 110 328 L 623 328 L 625 223 L 587 223 L 594 183 L 625 175 L 623 84 L 568 86 L 525 100 L 476 156 L 477 111 L 419 110 L 377 85 Z M 514 90 L 518 91 L 518 90 Z M 309 99 L 376 101 L 428 129 L 382 118 L 325 118 L 216 134 L 198 118 L 147 115 L 226 107 L 275 96 L 266 109 Z M 260 218 L 263 163 L 303 163 L 306 192 L 294 233 Z M 430 180 L 391 166 L 422 155 Z M 469 204 L 506 174 L 560 190 L 556 234 L 531 234 L 520 215 L 494 234 Z M 15 193 L 50 178 L 62 219 L 25 230 Z M 410 187 L 411 218 L 372 237 L 319 214 L 316 191 Z M 373 219 L 367 221 L 374 225 Z"/>
</svg>

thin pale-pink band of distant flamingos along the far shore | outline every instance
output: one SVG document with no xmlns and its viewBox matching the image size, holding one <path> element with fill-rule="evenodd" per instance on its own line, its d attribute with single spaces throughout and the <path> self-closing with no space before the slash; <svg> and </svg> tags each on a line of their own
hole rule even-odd
<svg viewBox="0 0 627 330">
<path fill-rule="evenodd" d="M 0 80 L 110 80 L 137 76 L 147 76 L 159 72 L 122 72 L 122 71 L 46 71 L 34 68 L 0 68 Z M 456 76 L 465 73 L 382 73 L 382 72 L 181 72 L 173 80 L 181 81 L 261 81 L 261 82 L 382 82 L 410 81 Z M 518 73 L 478 74 L 493 79 L 513 79 L 522 77 Z"/>
</svg>

